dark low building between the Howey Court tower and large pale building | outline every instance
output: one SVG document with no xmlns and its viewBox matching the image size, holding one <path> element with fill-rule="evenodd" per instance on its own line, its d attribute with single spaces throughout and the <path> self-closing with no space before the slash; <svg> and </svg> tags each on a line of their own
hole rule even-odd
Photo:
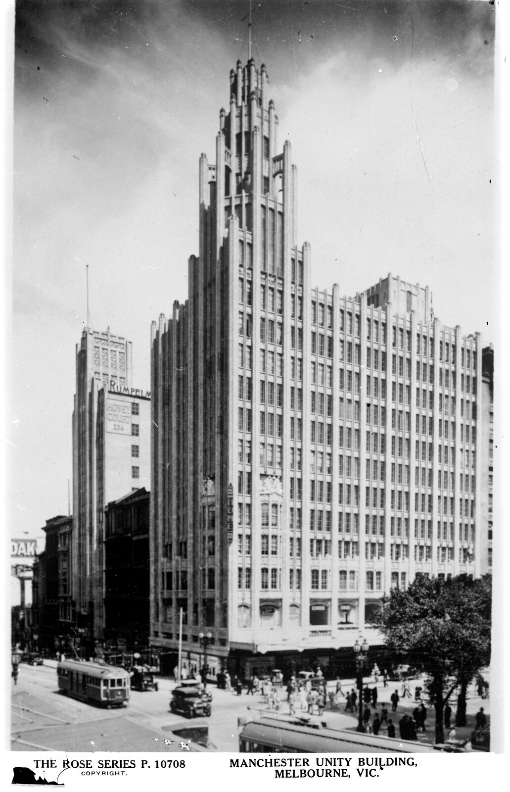
<svg viewBox="0 0 510 792">
<path fill-rule="evenodd" d="M 149 501 L 142 488 L 105 508 L 105 642 L 115 653 L 149 645 Z"/>
</svg>

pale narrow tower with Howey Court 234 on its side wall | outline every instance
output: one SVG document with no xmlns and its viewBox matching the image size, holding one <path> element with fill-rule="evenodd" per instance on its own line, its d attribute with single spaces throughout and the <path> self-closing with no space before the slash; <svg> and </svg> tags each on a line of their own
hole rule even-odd
<svg viewBox="0 0 510 792">
<path fill-rule="evenodd" d="M 76 348 L 72 586 L 87 650 L 103 639 L 105 506 L 150 487 L 150 392 L 135 389 L 131 341 L 84 329 Z"/>
</svg>

